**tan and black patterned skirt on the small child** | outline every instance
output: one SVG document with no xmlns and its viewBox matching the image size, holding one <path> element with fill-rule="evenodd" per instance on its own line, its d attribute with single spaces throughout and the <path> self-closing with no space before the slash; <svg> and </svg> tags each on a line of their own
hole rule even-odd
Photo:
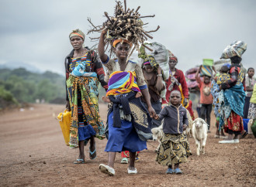
<svg viewBox="0 0 256 187">
<path fill-rule="evenodd" d="M 188 162 L 189 155 L 192 155 L 192 152 L 183 134 L 164 133 L 160 148 L 157 150 L 156 162 L 162 166 L 172 166 Z"/>
</svg>

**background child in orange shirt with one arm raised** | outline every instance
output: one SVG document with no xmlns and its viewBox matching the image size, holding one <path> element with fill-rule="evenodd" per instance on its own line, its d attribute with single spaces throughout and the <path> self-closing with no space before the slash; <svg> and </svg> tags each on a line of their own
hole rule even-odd
<svg viewBox="0 0 256 187">
<path fill-rule="evenodd" d="M 206 120 L 208 124 L 208 132 L 211 124 L 211 112 L 213 108 L 213 95 L 211 94 L 211 77 L 203 76 L 203 81 L 200 79 L 199 72 L 201 71 L 202 66 L 195 73 L 195 80 L 199 83 L 200 89 L 200 103 L 202 107 L 200 109 L 200 115 L 203 120 Z"/>
</svg>

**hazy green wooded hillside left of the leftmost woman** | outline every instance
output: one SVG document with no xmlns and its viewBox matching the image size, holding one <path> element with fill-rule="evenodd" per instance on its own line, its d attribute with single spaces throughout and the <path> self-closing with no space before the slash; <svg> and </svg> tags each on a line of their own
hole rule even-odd
<svg viewBox="0 0 256 187">
<path fill-rule="evenodd" d="M 1 69 L 0 87 L 21 103 L 33 103 L 36 99 L 50 102 L 64 100 L 66 97 L 64 76 L 50 71 L 39 74 L 31 73 L 24 68 Z M 5 92 L 6 99 L 10 97 L 8 93 Z"/>
</svg>

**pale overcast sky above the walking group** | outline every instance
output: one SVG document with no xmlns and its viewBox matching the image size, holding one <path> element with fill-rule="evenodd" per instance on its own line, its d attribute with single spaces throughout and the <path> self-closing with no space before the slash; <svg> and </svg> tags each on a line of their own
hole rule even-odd
<svg viewBox="0 0 256 187">
<path fill-rule="evenodd" d="M 121 1 L 123 2 L 123 0 Z M 256 1 L 254 0 L 127 0 L 127 7 L 141 6 L 147 29 L 154 39 L 178 57 L 178 69 L 202 63 L 203 58 L 219 59 L 234 40 L 247 42 L 245 67 L 256 63 Z M 73 29 L 88 32 L 90 17 L 95 25 L 113 15 L 114 0 L 0 0 L 0 63 L 23 62 L 40 70 L 64 74 L 64 57 L 72 47 Z M 92 37 L 95 35 L 92 35 Z M 85 45 L 92 46 L 88 36 Z"/>
</svg>

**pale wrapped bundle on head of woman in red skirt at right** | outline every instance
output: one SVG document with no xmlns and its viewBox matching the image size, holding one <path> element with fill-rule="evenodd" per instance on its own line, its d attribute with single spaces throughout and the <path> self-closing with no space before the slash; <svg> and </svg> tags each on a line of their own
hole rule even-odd
<svg viewBox="0 0 256 187">
<path fill-rule="evenodd" d="M 224 49 L 220 59 L 230 59 L 233 56 L 241 57 L 246 49 L 247 43 L 243 41 L 234 41 Z"/>
</svg>

